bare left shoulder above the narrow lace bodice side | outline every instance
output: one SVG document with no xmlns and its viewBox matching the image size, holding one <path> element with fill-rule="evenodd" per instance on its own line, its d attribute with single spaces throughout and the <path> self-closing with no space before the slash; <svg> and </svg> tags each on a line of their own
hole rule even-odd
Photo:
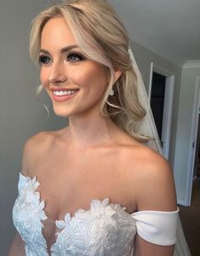
<svg viewBox="0 0 200 256">
<path fill-rule="evenodd" d="M 52 148 L 54 140 L 55 132 L 49 131 L 40 132 L 26 140 L 22 157 L 22 174 L 34 176 L 40 159 Z"/>
</svg>

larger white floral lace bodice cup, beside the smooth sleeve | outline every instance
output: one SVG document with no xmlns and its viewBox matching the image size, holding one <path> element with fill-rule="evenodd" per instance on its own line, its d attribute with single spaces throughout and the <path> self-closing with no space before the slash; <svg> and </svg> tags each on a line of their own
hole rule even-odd
<svg viewBox="0 0 200 256">
<path fill-rule="evenodd" d="M 90 210 L 80 209 L 74 217 L 65 215 L 56 221 L 61 230 L 52 247 L 52 255 L 121 256 L 131 255 L 136 233 L 135 221 L 125 208 L 92 200 Z"/>
</svg>

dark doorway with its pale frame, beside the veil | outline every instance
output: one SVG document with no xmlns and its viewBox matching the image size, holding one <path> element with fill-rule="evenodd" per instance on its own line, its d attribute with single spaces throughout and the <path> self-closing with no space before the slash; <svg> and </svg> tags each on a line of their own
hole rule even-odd
<svg viewBox="0 0 200 256">
<path fill-rule="evenodd" d="M 166 159 L 169 159 L 174 85 L 175 76 L 171 71 L 151 63 L 148 99 Z"/>
</svg>

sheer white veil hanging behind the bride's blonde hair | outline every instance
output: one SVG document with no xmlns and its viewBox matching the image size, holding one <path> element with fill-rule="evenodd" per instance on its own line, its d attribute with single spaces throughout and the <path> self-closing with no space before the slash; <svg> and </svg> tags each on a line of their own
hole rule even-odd
<svg viewBox="0 0 200 256">
<path fill-rule="evenodd" d="M 132 65 L 134 67 L 134 70 L 136 71 L 136 75 L 139 80 L 139 87 L 138 87 L 138 94 L 139 99 L 141 100 L 141 103 L 145 110 L 147 111 L 146 117 L 143 119 L 139 131 L 140 134 L 144 134 L 147 136 L 150 136 L 153 139 L 150 139 L 150 141 L 147 143 L 147 145 L 152 148 L 154 151 L 158 151 L 161 155 L 163 154 L 161 143 L 158 137 L 157 128 L 153 119 L 153 113 L 151 111 L 151 106 L 149 104 L 148 98 L 147 98 L 147 91 L 144 86 L 144 82 L 142 81 L 141 73 L 138 69 L 138 66 L 136 65 L 136 60 L 132 54 L 131 48 L 129 49 L 129 53 L 131 55 Z M 186 238 L 184 236 L 182 225 L 181 225 L 181 219 L 178 218 L 177 223 L 177 237 L 176 237 L 176 243 L 175 243 L 175 253 L 174 256 L 191 256 L 189 247 L 186 243 Z"/>
</svg>

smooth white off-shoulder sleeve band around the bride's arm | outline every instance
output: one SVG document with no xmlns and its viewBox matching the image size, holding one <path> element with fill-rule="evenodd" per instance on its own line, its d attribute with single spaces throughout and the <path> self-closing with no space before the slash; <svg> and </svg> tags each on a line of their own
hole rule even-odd
<svg viewBox="0 0 200 256">
<path fill-rule="evenodd" d="M 169 246 L 175 244 L 179 208 L 174 212 L 140 211 L 132 213 L 136 230 L 147 242 Z"/>
</svg>

